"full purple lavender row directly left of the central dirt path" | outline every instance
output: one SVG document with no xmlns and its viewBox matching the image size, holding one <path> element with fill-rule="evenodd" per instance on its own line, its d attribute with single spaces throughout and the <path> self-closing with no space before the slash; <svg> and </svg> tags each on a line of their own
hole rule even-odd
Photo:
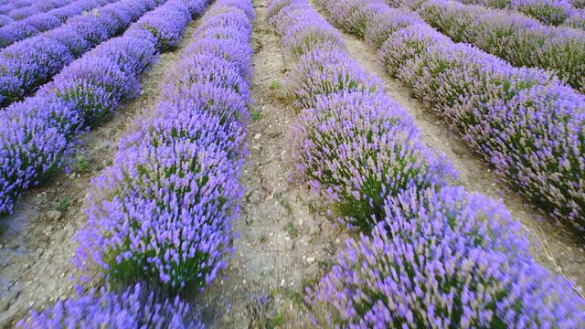
<svg viewBox="0 0 585 329">
<path fill-rule="evenodd" d="M 207 12 L 165 75 L 154 115 L 136 122 L 112 166 L 92 181 L 76 261 L 83 270 L 97 267 L 108 289 L 32 313 L 23 327 L 203 326 L 179 296 L 210 284 L 231 249 L 252 19 L 250 1 L 219 0 Z"/>
</svg>

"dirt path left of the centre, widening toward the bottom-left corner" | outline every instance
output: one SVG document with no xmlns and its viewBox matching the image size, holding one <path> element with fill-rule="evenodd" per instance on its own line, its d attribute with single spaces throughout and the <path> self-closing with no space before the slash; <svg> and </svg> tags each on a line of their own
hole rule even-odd
<svg viewBox="0 0 585 329">
<path fill-rule="evenodd" d="M 69 260 L 77 248 L 73 237 L 87 220 L 90 179 L 111 164 L 118 141 L 133 122 L 154 109 L 166 70 L 175 66 L 197 26 L 197 20 L 190 22 L 180 47 L 161 54 L 144 74 L 142 95 L 124 102 L 110 120 L 80 137 L 69 175 L 31 189 L 16 203 L 13 215 L 0 218 L 0 328 L 14 326 L 31 308 L 73 293 L 69 274 L 79 271 Z"/>
</svg>

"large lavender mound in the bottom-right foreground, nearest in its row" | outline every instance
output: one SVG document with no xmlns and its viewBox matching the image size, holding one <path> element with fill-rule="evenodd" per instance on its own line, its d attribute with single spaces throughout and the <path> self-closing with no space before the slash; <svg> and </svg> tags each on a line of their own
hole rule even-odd
<svg viewBox="0 0 585 329">
<path fill-rule="evenodd" d="M 372 237 L 349 239 L 307 290 L 315 324 L 577 328 L 585 303 L 527 255 L 503 205 L 462 188 L 390 197 Z"/>
</svg>

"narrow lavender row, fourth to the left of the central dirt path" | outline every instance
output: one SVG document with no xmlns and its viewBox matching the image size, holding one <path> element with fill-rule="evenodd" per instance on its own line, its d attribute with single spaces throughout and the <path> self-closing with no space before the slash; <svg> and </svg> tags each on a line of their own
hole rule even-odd
<svg viewBox="0 0 585 329">
<path fill-rule="evenodd" d="M 87 15 L 96 7 L 107 5 L 114 0 L 79 0 L 69 5 L 54 9 L 48 13 L 37 14 L 23 20 L 9 22 L 0 27 L 0 48 L 5 48 L 17 41 L 33 37 L 48 30 L 60 27 L 69 17 Z M 1 19 L 1 18 L 0 18 Z"/>
</svg>

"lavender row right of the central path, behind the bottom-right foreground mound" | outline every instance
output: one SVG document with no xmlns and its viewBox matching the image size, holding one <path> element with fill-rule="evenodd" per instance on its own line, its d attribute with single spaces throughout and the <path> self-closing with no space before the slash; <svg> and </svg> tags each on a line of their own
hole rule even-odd
<svg viewBox="0 0 585 329">
<path fill-rule="evenodd" d="M 367 230 L 381 219 L 387 196 L 441 188 L 456 175 L 310 5 L 285 6 L 270 19 L 293 60 L 286 90 L 302 110 L 293 130 L 297 169 L 341 220 Z"/>
</svg>

